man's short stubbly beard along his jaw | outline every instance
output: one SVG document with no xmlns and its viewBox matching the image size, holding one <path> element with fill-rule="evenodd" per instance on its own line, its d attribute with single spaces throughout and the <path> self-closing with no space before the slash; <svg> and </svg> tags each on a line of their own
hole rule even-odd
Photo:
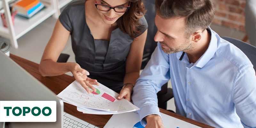
<svg viewBox="0 0 256 128">
<path fill-rule="evenodd" d="M 166 53 L 166 54 L 172 54 L 172 53 L 177 53 L 177 52 L 180 52 L 180 51 L 185 51 L 185 50 L 191 49 L 191 44 L 189 44 L 188 46 L 184 46 L 184 47 L 182 47 L 182 45 L 181 45 L 181 46 L 179 46 L 179 47 L 177 47 L 177 48 L 170 48 L 170 47 L 169 47 L 166 43 L 164 43 L 164 42 L 159 42 L 159 43 L 168 47 L 168 48 L 164 48 L 164 47 L 161 46 L 161 49 L 162 49 L 163 52 Z M 187 45 L 188 43 L 189 43 L 188 40 L 186 40 L 186 43 L 185 43 L 185 44 Z"/>
</svg>

